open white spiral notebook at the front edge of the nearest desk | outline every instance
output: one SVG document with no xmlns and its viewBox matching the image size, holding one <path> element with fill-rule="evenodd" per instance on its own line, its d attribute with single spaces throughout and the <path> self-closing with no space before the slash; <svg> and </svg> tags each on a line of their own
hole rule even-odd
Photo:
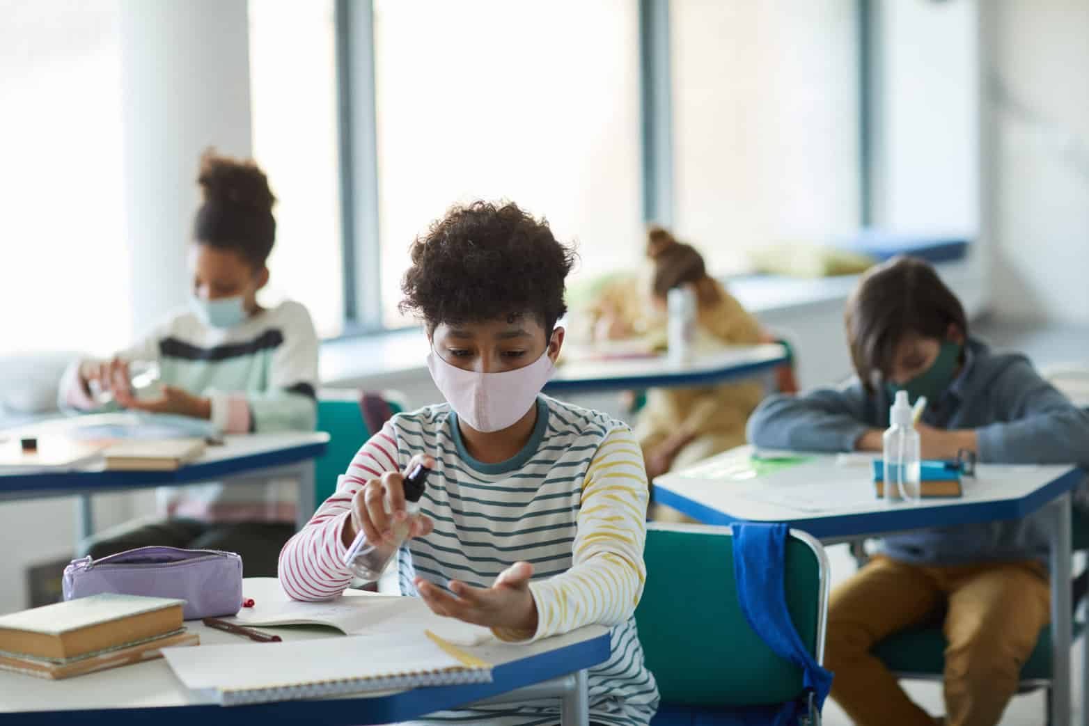
<svg viewBox="0 0 1089 726">
<path fill-rule="evenodd" d="M 187 688 L 222 705 L 491 680 L 491 664 L 429 630 L 168 648 L 162 654 Z"/>
</svg>

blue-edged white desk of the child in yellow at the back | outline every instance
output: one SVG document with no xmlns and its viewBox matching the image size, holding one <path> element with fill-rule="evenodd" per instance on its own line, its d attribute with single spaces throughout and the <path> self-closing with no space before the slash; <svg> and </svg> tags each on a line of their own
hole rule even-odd
<svg viewBox="0 0 1089 726">
<path fill-rule="evenodd" d="M 648 358 L 573 359 L 556 368 L 544 392 L 586 393 L 668 386 L 697 386 L 752 378 L 790 360 L 779 343 L 737 345 L 673 365 L 665 355 Z"/>
</svg>

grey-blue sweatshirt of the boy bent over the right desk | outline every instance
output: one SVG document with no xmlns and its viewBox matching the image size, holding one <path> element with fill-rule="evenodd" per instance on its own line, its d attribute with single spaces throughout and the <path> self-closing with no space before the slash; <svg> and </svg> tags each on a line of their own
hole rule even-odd
<svg viewBox="0 0 1089 726">
<path fill-rule="evenodd" d="M 866 393 L 856 379 L 840 389 L 766 399 L 748 422 L 760 447 L 849 452 L 866 431 L 889 426 L 884 390 Z M 971 339 L 964 365 L 922 421 L 941 429 L 975 429 L 984 464 L 1089 465 L 1089 414 L 1040 378 L 1021 355 L 996 355 Z M 884 539 L 889 556 L 920 565 L 1048 559 L 1041 513 L 1013 521 L 935 527 Z"/>
</svg>

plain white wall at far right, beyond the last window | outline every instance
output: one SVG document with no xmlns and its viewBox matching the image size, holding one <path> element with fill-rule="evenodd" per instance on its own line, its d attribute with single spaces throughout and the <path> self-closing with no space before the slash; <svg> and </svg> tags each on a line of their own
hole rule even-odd
<svg viewBox="0 0 1089 726">
<path fill-rule="evenodd" d="M 983 3 L 993 300 L 1006 317 L 1089 323 L 1089 3 Z"/>
</svg>

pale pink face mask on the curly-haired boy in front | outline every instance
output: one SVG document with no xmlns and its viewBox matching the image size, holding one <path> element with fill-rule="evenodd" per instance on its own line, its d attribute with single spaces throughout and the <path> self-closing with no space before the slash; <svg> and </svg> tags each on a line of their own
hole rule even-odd
<svg viewBox="0 0 1089 726">
<path fill-rule="evenodd" d="M 501 373 L 464 370 L 431 350 L 427 369 L 458 418 L 485 432 L 501 431 L 525 416 L 555 372 L 547 350 L 528 366 Z"/>
</svg>

